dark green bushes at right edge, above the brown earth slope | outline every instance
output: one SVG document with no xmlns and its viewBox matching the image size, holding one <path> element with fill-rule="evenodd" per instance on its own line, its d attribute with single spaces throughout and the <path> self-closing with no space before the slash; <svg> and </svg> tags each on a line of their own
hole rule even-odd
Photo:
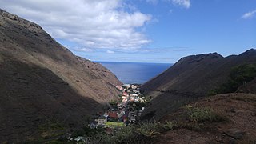
<svg viewBox="0 0 256 144">
<path fill-rule="evenodd" d="M 235 66 L 228 80 L 217 89 L 210 90 L 209 95 L 234 93 L 239 86 L 245 85 L 256 78 L 256 64 Z"/>
</svg>

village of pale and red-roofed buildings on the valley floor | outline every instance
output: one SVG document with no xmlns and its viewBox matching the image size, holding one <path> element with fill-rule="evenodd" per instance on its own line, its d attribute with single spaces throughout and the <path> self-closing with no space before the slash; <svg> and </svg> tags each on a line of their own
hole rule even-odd
<svg viewBox="0 0 256 144">
<path fill-rule="evenodd" d="M 106 128 L 117 130 L 122 126 L 128 126 L 137 122 L 146 106 L 146 98 L 140 93 L 138 84 L 124 84 L 116 86 L 120 90 L 119 99 L 110 101 L 104 114 L 98 114 L 98 118 L 90 123 L 90 128 Z"/>
</svg>

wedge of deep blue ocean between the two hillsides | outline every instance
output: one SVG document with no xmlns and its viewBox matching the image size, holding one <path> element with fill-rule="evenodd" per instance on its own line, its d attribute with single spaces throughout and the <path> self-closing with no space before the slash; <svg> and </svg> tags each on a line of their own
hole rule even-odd
<svg viewBox="0 0 256 144">
<path fill-rule="evenodd" d="M 114 73 L 122 83 L 143 84 L 167 70 L 169 63 L 98 62 Z"/>
</svg>

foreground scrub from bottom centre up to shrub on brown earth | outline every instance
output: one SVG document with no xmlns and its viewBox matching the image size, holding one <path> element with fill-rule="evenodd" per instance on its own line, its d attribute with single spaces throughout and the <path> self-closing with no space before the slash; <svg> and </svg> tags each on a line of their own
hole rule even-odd
<svg viewBox="0 0 256 144">
<path fill-rule="evenodd" d="M 182 109 L 178 117 L 186 117 L 186 121 L 175 122 L 143 122 L 131 126 L 119 126 L 118 130 L 106 133 L 104 128 L 90 129 L 85 126 L 83 130 L 76 131 L 72 138 L 84 136 L 88 143 L 145 143 L 168 130 L 186 128 L 190 130 L 202 130 L 203 122 L 222 122 L 227 118 L 210 109 L 209 107 L 197 107 L 187 105 Z M 188 120 L 188 121 L 187 121 Z"/>
</svg>

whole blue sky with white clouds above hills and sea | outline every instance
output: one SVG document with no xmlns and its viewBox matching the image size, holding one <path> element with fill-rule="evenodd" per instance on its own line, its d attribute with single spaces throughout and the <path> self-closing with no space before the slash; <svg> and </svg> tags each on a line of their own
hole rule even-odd
<svg viewBox="0 0 256 144">
<path fill-rule="evenodd" d="M 255 0 L 0 0 L 91 61 L 174 63 L 256 48 Z"/>
</svg>

